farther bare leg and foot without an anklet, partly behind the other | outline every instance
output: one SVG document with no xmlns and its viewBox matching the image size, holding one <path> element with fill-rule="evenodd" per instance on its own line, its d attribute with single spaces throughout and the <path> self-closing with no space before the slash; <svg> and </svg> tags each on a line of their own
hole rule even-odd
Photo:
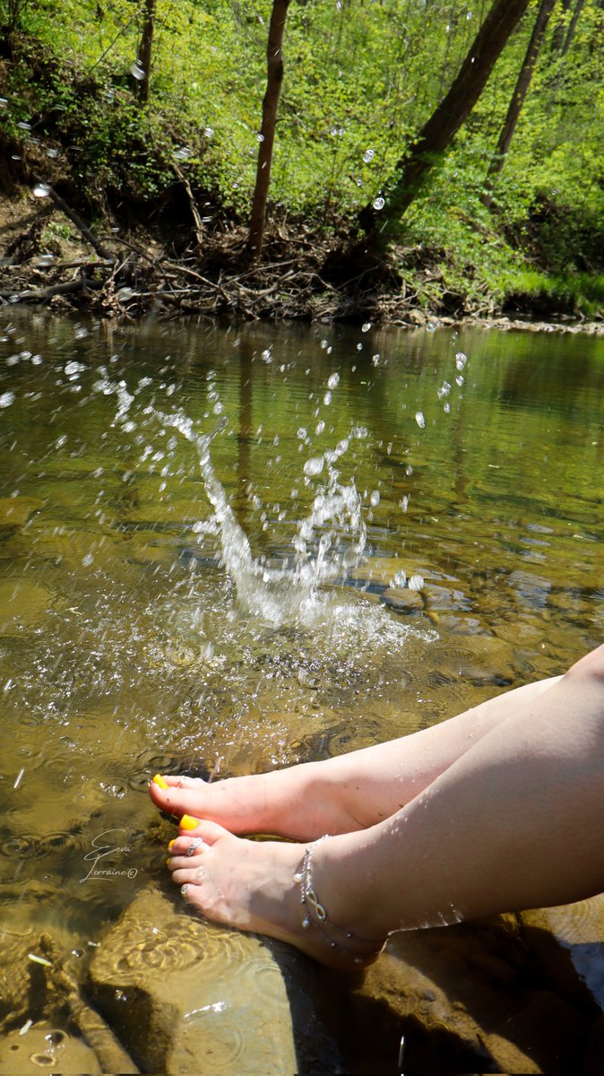
<svg viewBox="0 0 604 1076">
<path fill-rule="evenodd" d="M 211 819 L 231 833 L 312 840 L 328 832 L 363 830 L 393 815 L 486 733 L 559 679 L 517 688 L 431 728 L 325 762 L 213 784 L 190 777 L 169 776 L 159 783 L 154 778 L 149 793 L 163 810 Z"/>
</svg>

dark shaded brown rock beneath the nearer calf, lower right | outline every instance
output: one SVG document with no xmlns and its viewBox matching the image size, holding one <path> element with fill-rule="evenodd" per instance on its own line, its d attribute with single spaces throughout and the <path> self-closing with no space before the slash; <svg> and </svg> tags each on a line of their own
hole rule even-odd
<svg viewBox="0 0 604 1076">
<path fill-rule="evenodd" d="M 393 935 L 345 1016 L 355 1072 L 566 1076 L 584 1065 L 592 1014 L 561 996 L 514 916 Z M 356 1029 L 373 1015 L 371 1046 Z M 379 1044 L 379 1049 L 376 1048 Z"/>
</svg>

